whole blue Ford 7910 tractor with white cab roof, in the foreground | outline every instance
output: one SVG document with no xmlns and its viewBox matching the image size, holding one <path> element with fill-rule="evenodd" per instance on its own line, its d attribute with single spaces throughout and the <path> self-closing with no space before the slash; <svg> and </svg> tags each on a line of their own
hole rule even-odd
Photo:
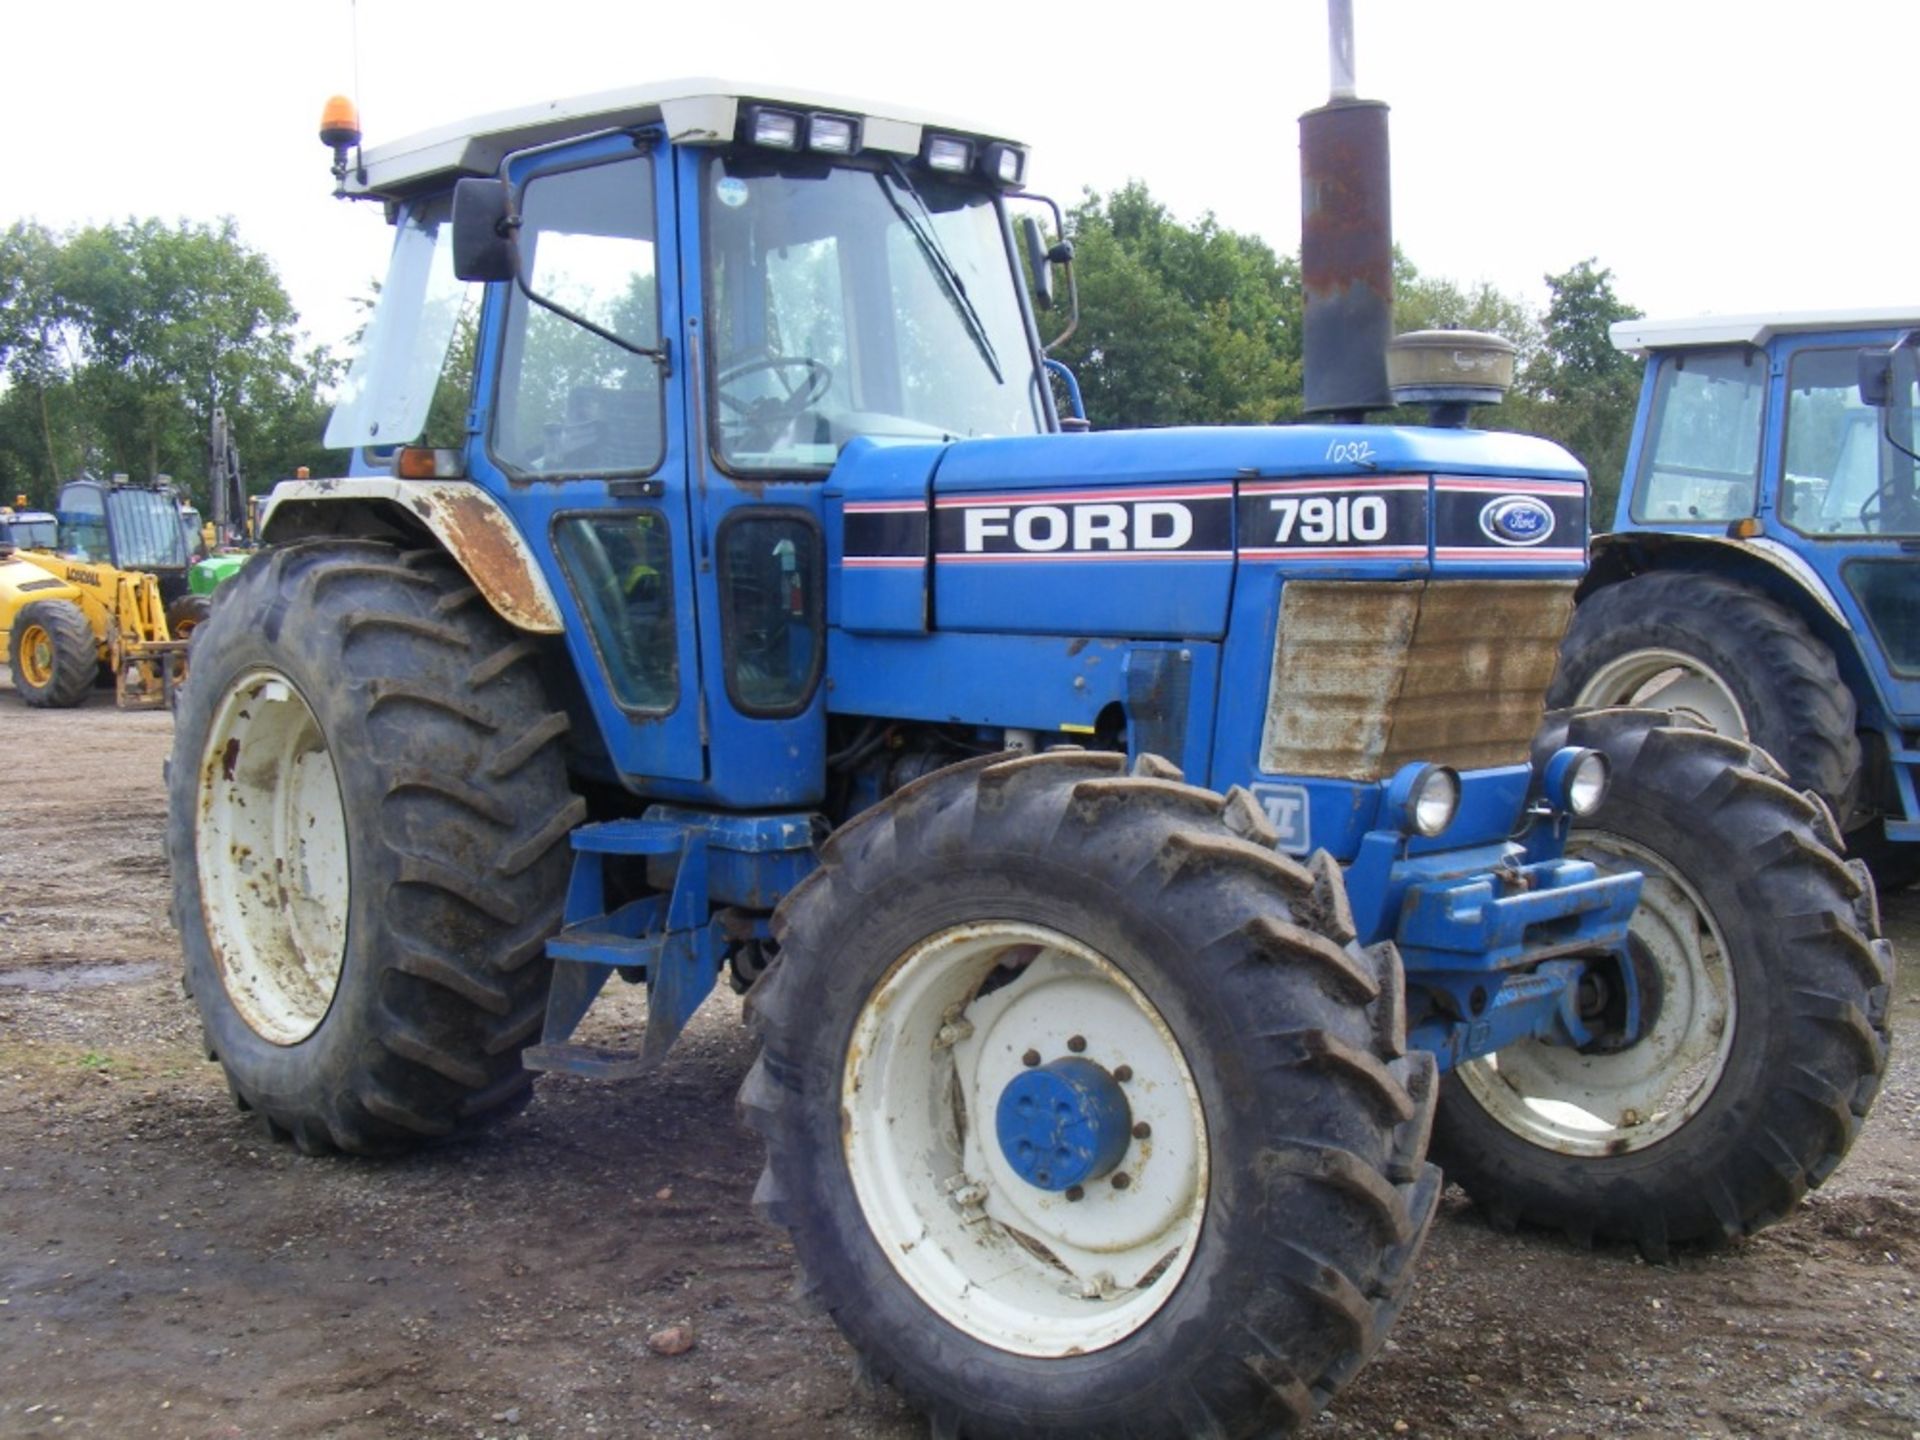
<svg viewBox="0 0 1920 1440">
<path fill-rule="evenodd" d="M 1327 422 L 1085 434 L 1002 134 L 718 81 L 365 156 L 334 111 L 397 232 L 348 463 L 276 488 L 171 762 L 238 1104 L 415 1146 L 730 975 L 758 1208 L 977 1436 L 1302 1423 L 1407 1296 L 1428 1142 L 1649 1254 L 1820 1183 L 1885 1066 L 1872 885 L 1747 745 L 1546 712 L 1586 476 L 1352 422 L 1390 246 L 1325 240 L 1384 108 L 1308 121 Z M 632 1052 L 576 1039 L 612 981 Z"/>
</svg>

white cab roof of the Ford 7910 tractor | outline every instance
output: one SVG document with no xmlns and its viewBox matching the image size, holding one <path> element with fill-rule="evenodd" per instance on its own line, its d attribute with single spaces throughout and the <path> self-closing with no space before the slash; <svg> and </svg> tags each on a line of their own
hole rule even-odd
<svg viewBox="0 0 1920 1440">
<path fill-rule="evenodd" d="M 818 90 L 701 77 L 549 100 L 372 146 L 361 156 L 365 179 L 348 173 L 348 192 L 405 196 L 457 175 L 493 175 L 501 159 L 515 150 L 634 125 L 662 125 L 674 144 L 728 144 L 733 140 L 739 106 L 745 102 L 858 115 L 860 148 L 899 156 L 918 156 L 922 131 L 927 129 L 1010 140 L 948 115 L 906 106 L 877 106 Z"/>
</svg>

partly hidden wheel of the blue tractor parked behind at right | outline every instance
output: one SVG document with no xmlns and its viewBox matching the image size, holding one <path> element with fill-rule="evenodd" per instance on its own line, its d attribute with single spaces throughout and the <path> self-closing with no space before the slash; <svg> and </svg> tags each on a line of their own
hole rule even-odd
<svg viewBox="0 0 1920 1440">
<path fill-rule="evenodd" d="M 1670 710 L 1759 745 L 1841 826 L 1860 791 L 1855 703 L 1834 653 L 1789 609 L 1722 576 L 1655 570 L 1588 595 L 1548 705 Z"/>
</svg>

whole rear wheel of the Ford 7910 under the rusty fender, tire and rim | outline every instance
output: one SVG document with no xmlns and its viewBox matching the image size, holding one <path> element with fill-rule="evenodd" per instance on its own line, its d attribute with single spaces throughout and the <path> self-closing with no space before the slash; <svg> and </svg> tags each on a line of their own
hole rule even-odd
<svg viewBox="0 0 1920 1440">
<path fill-rule="evenodd" d="M 532 641 L 440 551 L 305 541 L 228 591 L 169 768 L 209 1054 L 303 1150 L 392 1152 L 516 1106 L 584 816 Z"/>
</svg>

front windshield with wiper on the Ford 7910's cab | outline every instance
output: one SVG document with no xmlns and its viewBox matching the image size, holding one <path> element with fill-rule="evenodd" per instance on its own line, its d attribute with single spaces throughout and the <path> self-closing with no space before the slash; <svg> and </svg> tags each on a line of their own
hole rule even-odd
<svg viewBox="0 0 1920 1440">
<path fill-rule="evenodd" d="M 707 167 L 712 445 L 733 472 L 824 472 L 856 436 L 1046 428 L 1020 275 L 977 186 L 899 161 Z"/>
</svg>

